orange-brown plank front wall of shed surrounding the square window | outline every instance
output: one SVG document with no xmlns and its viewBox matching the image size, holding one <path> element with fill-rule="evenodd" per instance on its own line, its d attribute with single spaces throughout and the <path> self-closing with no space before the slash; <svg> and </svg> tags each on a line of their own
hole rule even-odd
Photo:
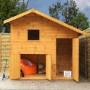
<svg viewBox="0 0 90 90">
<path fill-rule="evenodd" d="M 27 40 L 28 29 L 39 29 L 40 40 Z M 11 22 L 10 78 L 19 78 L 20 54 L 49 54 L 52 77 L 56 76 L 56 38 L 75 38 L 78 34 L 36 14 L 26 15 Z M 15 64 L 15 65 L 13 65 Z M 17 68 L 17 69 L 16 69 Z M 17 75 L 14 75 L 16 72 Z"/>
</svg>

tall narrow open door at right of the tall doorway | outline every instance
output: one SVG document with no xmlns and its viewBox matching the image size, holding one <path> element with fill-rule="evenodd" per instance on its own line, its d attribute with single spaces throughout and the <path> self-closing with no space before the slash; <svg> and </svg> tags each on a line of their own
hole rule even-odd
<svg viewBox="0 0 90 90">
<path fill-rule="evenodd" d="M 79 81 L 79 39 L 72 40 L 72 71 L 73 79 Z"/>
</svg>

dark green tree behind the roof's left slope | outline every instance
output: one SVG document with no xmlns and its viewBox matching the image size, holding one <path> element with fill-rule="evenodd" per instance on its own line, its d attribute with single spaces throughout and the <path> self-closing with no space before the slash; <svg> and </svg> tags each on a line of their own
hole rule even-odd
<svg viewBox="0 0 90 90">
<path fill-rule="evenodd" d="M 10 25 L 4 24 L 3 21 L 12 16 L 15 16 L 26 10 L 26 3 L 19 0 L 0 0 L 0 32 L 5 29 L 5 32 L 10 32 Z"/>
</svg>

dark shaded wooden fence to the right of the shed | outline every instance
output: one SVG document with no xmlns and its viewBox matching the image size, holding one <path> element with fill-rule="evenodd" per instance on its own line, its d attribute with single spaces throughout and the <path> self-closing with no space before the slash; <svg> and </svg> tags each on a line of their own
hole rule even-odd
<svg viewBox="0 0 90 90">
<path fill-rule="evenodd" d="M 90 80 L 90 28 L 80 37 L 80 74 Z"/>
</svg>

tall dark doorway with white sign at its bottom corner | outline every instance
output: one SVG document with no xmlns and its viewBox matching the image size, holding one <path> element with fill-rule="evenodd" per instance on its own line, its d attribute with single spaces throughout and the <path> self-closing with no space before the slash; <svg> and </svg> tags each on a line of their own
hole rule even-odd
<svg viewBox="0 0 90 90">
<path fill-rule="evenodd" d="M 72 39 L 56 39 L 57 78 L 72 78 Z"/>
</svg>

